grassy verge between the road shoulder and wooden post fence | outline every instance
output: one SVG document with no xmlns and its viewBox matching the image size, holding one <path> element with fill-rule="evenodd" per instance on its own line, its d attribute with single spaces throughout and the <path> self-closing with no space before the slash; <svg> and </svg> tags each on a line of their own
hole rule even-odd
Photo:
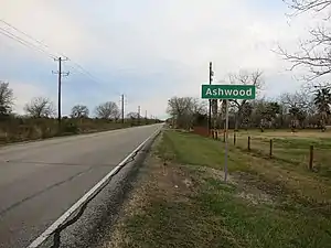
<svg viewBox="0 0 331 248">
<path fill-rule="evenodd" d="M 104 247 L 331 247 L 331 183 L 291 163 L 166 131 Z"/>
</svg>

